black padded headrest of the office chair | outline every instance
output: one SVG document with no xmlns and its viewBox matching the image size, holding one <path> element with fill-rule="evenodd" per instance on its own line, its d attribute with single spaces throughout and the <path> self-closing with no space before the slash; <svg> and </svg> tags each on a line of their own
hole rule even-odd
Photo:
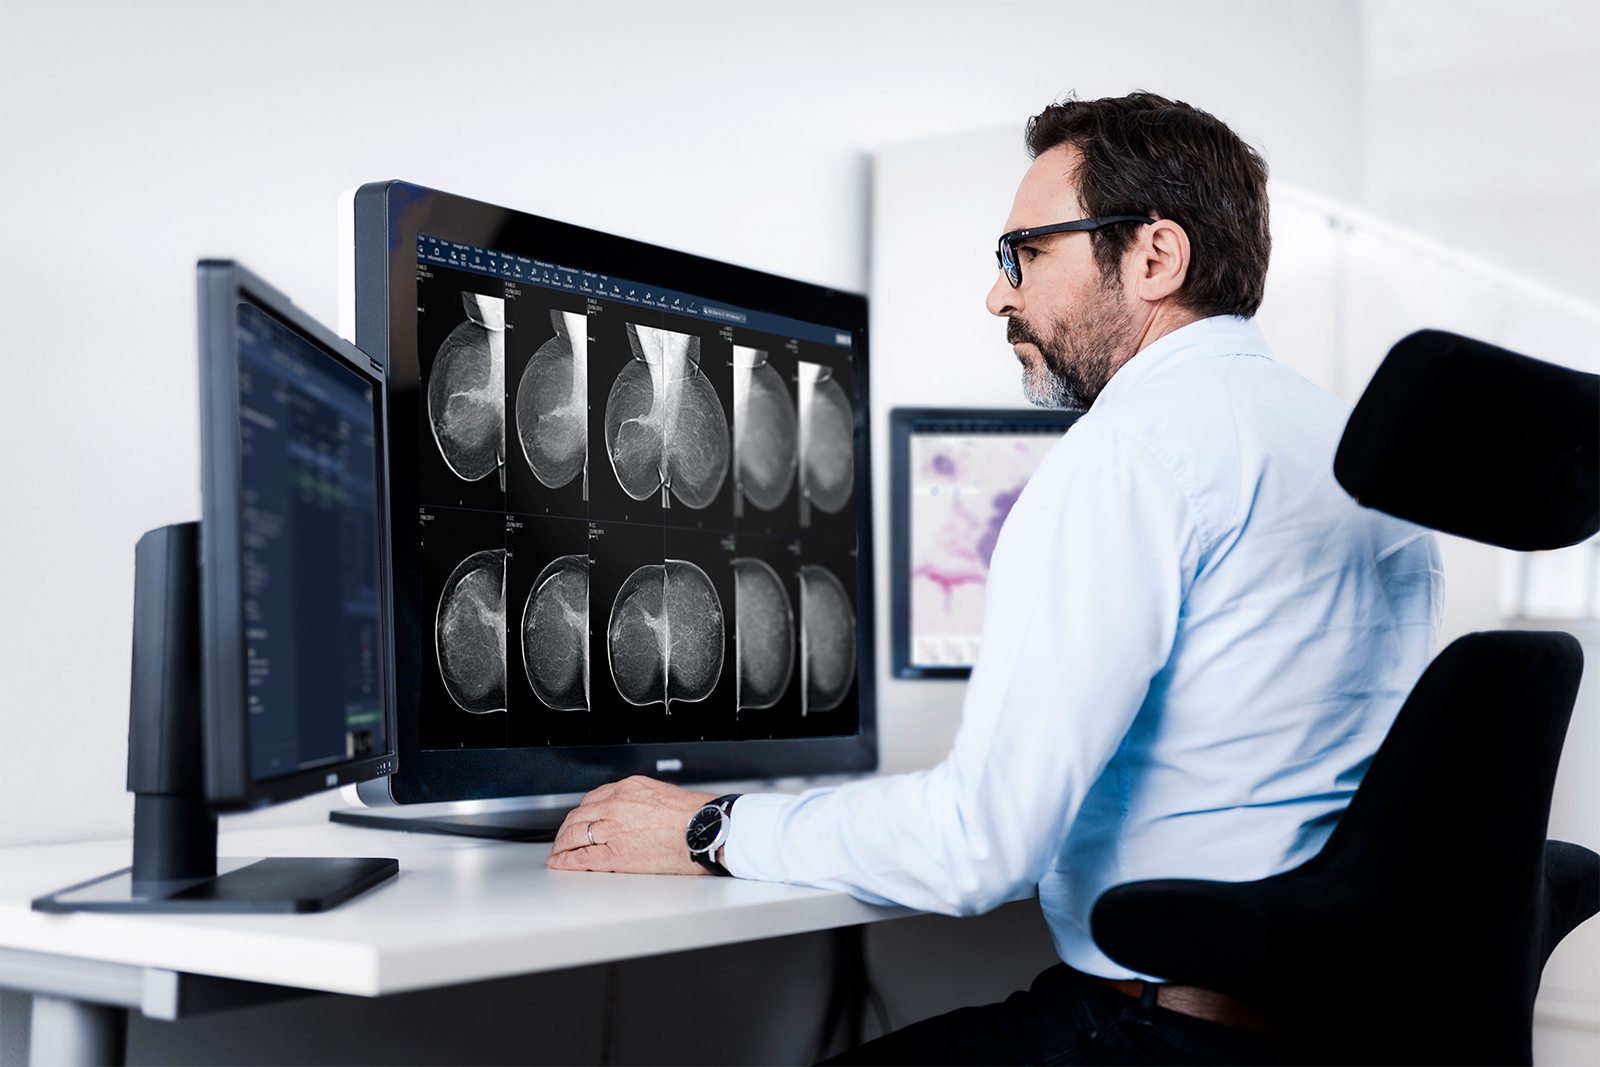
<svg viewBox="0 0 1600 1067">
<path fill-rule="evenodd" d="M 1333 475 L 1360 504 L 1506 549 L 1600 530 L 1600 376 L 1440 330 L 1384 358 Z"/>
</svg>

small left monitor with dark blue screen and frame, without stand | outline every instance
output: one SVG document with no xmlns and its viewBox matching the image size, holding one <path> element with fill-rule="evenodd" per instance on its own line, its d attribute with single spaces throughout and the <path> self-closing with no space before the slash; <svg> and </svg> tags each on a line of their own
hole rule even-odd
<svg viewBox="0 0 1600 1067">
<path fill-rule="evenodd" d="M 200 264 L 206 795 L 394 769 L 384 379 L 238 264 Z"/>
</svg>

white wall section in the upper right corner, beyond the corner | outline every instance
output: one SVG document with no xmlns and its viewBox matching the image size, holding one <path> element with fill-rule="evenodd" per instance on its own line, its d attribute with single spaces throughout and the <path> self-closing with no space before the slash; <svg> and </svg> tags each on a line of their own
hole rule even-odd
<svg viewBox="0 0 1600 1067">
<path fill-rule="evenodd" d="M 1600 302 L 1600 3 L 1366 0 L 1362 86 L 1357 203 Z"/>
</svg>

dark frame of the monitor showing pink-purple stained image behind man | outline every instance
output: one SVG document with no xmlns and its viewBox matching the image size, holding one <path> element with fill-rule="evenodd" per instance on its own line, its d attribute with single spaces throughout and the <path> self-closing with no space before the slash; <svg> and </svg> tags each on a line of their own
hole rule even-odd
<svg viewBox="0 0 1600 1067">
<path fill-rule="evenodd" d="M 910 438 L 918 424 L 1003 429 L 1072 424 L 1077 410 L 1050 408 L 891 408 L 890 410 L 890 670 L 896 678 L 960 681 L 971 667 L 918 667 L 910 661 Z"/>
</svg>

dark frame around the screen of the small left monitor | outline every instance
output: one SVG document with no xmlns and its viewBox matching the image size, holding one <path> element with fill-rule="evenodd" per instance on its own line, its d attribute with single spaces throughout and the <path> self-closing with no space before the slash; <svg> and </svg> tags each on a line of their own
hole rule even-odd
<svg viewBox="0 0 1600 1067">
<path fill-rule="evenodd" d="M 392 630 L 389 561 L 387 403 L 382 365 L 294 306 L 278 290 L 232 261 L 205 259 L 198 269 L 200 320 L 200 683 L 205 795 L 216 811 L 259 808 L 309 793 L 365 782 L 395 768 L 395 677 L 389 641 L 379 645 L 384 686 L 384 750 L 256 781 L 250 776 L 250 712 L 245 693 L 245 598 L 240 518 L 242 442 L 238 403 L 238 320 L 243 301 L 338 358 L 374 389 L 379 493 L 378 611 Z"/>
</svg>

